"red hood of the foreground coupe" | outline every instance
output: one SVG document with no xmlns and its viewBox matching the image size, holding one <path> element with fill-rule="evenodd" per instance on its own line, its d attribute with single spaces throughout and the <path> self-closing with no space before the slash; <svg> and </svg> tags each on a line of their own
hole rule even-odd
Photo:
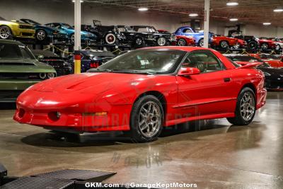
<svg viewBox="0 0 283 189">
<path fill-rule="evenodd" d="M 70 93 L 73 91 L 78 93 L 98 94 L 120 86 L 129 86 L 129 88 L 132 86 L 132 89 L 134 89 L 134 86 L 142 84 L 154 77 L 155 76 L 152 75 L 101 72 L 71 74 L 42 81 L 40 84 L 36 84 L 32 89 L 41 92 Z M 112 79 L 110 80 L 110 78 Z"/>
</svg>

